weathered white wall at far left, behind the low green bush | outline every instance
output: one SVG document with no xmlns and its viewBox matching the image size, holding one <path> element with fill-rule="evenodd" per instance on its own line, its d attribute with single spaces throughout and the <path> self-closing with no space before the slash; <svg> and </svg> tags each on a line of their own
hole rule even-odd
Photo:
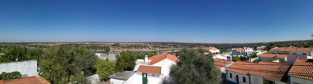
<svg viewBox="0 0 313 84">
<path fill-rule="evenodd" d="M 0 73 L 2 72 L 21 72 L 22 75 L 27 74 L 30 76 L 36 76 L 37 73 L 37 60 L 25 60 L 25 61 L 15 61 L 0 63 Z"/>
</svg>

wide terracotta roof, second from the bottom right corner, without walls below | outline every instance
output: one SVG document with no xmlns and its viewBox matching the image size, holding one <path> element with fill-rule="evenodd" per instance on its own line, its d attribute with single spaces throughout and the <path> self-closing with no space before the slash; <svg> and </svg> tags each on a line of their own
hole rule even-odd
<svg viewBox="0 0 313 84">
<path fill-rule="evenodd" d="M 259 65 L 259 64 L 271 64 L 271 65 Z M 275 81 L 288 82 L 287 80 L 288 77 L 286 73 L 288 72 L 288 69 L 291 67 L 291 64 L 276 63 L 276 62 L 269 62 L 269 61 L 261 61 L 259 64 L 256 65 L 255 68 L 249 72 L 249 74 L 272 79 Z M 277 73 L 273 73 L 273 72 L 277 72 Z"/>
</svg>

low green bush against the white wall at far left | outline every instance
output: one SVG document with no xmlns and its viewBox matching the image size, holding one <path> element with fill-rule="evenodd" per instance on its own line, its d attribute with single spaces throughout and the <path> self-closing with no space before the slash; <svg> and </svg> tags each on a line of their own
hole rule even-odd
<svg viewBox="0 0 313 84">
<path fill-rule="evenodd" d="M 20 72 L 2 72 L 0 74 L 0 80 L 11 80 L 11 79 L 17 79 L 17 78 L 21 78 L 22 75 Z"/>
</svg>

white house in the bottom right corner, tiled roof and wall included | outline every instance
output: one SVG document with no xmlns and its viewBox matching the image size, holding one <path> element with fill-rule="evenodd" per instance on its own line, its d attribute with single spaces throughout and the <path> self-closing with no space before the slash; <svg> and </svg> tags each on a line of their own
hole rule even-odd
<svg viewBox="0 0 313 84">
<path fill-rule="evenodd" d="M 313 84 L 313 59 L 297 58 L 294 65 L 288 72 L 290 84 Z"/>
</svg>

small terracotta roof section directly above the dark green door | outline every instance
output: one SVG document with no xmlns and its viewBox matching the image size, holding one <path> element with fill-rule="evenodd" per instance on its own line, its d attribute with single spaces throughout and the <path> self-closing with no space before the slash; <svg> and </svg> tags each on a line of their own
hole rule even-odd
<svg viewBox="0 0 313 84">
<path fill-rule="evenodd" d="M 161 74 L 162 67 L 140 65 L 136 72 Z"/>
</svg>

